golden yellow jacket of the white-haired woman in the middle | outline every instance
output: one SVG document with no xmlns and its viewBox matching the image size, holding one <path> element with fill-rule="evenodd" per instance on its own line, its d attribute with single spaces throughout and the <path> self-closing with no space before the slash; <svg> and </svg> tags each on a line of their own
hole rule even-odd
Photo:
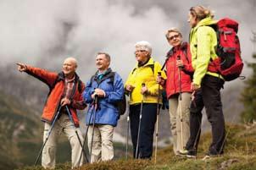
<svg viewBox="0 0 256 170">
<path fill-rule="evenodd" d="M 158 102 L 159 88 L 160 92 L 163 90 L 162 86 L 159 86 L 156 81 L 158 77 L 158 72 L 161 72 L 161 76 L 166 79 L 164 71 L 161 71 L 160 63 L 154 62 L 153 58 L 150 58 L 149 61 L 141 67 L 138 67 L 138 63 L 136 63 L 136 67 L 131 70 L 128 79 L 125 82 L 125 86 L 132 85 L 135 87 L 131 92 L 130 105 L 142 102 L 142 83 L 145 83 L 148 90 L 147 94 L 144 95 L 143 102 Z M 159 97 L 159 102 L 162 103 L 162 97 Z"/>
</svg>

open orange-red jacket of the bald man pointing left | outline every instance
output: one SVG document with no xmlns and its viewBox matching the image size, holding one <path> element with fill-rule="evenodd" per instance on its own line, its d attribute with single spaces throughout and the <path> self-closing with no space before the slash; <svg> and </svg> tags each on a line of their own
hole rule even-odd
<svg viewBox="0 0 256 170">
<path fill-rule="evenodd" d="M 26 73 L 31 74 L 38 80 L 41 80 L 50 88 L 46 104 L 42 111 L 42 121 L 47 123 L 53 123 L 53 118 L 57 113 L 59 101 L 61 100 L 61 96 L 64 93 L 64 73 L 61 72 L 57 74 L 53 72 L 48 72 L 44 69 L 34 68 L 31 66 L 27 66 Z M 79 127 L 79 120 L 77 118 L 76 109 L 84 109 L 86 107 L 86 103 L 83 101 L 82 97 L 82 92 L 85 89 L 85 85 L 81 82 L 77 74 L 75 74 L 74 88 L 75 92 L 74 95 L 70 98 L 71 105 L 69 106 L 69 108 L 75 126 Z"/>
</svg>

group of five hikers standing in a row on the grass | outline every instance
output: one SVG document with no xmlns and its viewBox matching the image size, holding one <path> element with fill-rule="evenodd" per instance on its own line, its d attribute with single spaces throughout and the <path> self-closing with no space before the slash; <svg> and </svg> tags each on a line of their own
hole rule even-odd
<svg viewBox="0 0 256 170">
<path fill-rule="evenodd" d="M 117 103 L 129 96 L 129 118 L 133 157 L 151 159 L 153 134 L 162 104 L 161 91 L 169 101 L 170 131 L 176 156 L 196 157 L 201 132 L 202 110 L 212 128 L 212 143 L 204 157 L 220 156 L 225 145 L 225 121 L 220 99 L 224 78 L 209 71 L 209 63 L 217 58 L 217 37 L 214 15 L 209 8 L 190 8 L 188 23 L 189 43 L 182 41 L 181 31 L 167 30 L 165 37 L 171 49 L 162 68 L 151 57 L 152 47 L 147 41 L 135 45 L 136 67 L 131 69 L 125 83 L 120 74 L 110 69 L 110 56 L 98 52 L 97 72 L 86 85 L 75 73 L 77 61 L 66 58 L 62 72 L 17 63 L 20 72 L 31 74 L 48 85 L 50 92 L 42 111 L 44 122 L 42 167 L 55 167 L 58 134 L 70 140 L 72 168 L 80 167 L 86 158 L 85 141 L 90 152 L 89 162 L 108 161 L 114 158 L 113 134 L 120 114 Z M 164 71 L 164 69 L 166 71 Z M 88 106 L 86 113 L 86 139 L 79 127 L 76 110 Z M 88 160 L 87 160 L 88 161 Z"/>
</svg>

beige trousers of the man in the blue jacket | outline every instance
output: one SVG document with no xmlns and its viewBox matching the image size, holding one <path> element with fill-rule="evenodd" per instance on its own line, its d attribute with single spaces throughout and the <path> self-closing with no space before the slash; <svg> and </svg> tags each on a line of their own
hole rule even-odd
<svg viewBox="0 0 256 170">
<path fill-rule="evenodd" d="M 113 147 L 114 127 L 111 125 L 95 125 L 92 142 L 92 125 L 88 129 L 88 147 L 92 156 L 91 163 L 112 160 L 114 157 Z"/>
</svg>

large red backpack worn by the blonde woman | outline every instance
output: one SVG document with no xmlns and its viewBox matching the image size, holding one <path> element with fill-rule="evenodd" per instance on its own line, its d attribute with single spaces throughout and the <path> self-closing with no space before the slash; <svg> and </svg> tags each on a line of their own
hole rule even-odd
<svg viewBox="0 0 256 170">
<path fill-rule="evenodd" d="M 220 73 L 226 81 L 237 79 L 242 73 L 243 63 L 239 38 L 237 36 L 238 23 L 235 20 L 220 19 L 214 28 L 218 45 L 216 54 L 219 58 L 209 63 L 208 70 Z"/>
</svg>

